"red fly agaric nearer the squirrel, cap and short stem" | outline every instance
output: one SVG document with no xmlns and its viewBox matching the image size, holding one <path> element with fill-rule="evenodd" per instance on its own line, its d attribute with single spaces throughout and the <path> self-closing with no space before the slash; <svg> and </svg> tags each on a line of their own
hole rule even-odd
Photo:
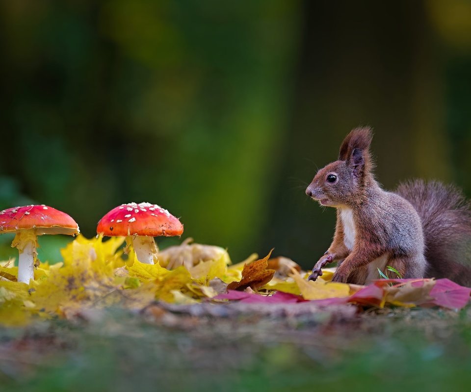
<svg viewBox="0 0 471 392">
<path fill-rule="evenodd" d="M 151 203 L 128 203 L 113 208 L 99 222 L 97 234 L 107 237 L 126 237 L 137 260 L 154 264 L 157 245 L 153 237 L 180 236 L 183 224 L 167 210 Z"/>
</svg>

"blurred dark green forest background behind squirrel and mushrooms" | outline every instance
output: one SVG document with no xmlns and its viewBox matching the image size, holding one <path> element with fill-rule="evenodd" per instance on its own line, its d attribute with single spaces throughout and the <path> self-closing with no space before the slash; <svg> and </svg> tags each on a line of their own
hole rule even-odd
<svg viewBox="0 0 471 392">
<path fill-rule="evenodd" d="M 304 190 L 359 124 L 386 188 L 471 196 L 469 0 L 3 1 L 0 56 L 0 208 L 48 204 L 87 237 L 149 201 L 233 261 L 311 267 L 335 211 Z"/>
</svg>

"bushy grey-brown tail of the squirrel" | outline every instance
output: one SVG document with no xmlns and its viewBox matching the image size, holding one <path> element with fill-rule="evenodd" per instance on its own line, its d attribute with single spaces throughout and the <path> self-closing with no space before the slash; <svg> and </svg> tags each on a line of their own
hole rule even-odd
<svg viewBox="0 0 471 392">
<path fill-rule="evenodd" d="M 396 193 L 414 206 L 422 221 L 426 276 L 471 286 L 471 204 L 463 193 L 422 180 L 403 183 Z"/>
</svg>

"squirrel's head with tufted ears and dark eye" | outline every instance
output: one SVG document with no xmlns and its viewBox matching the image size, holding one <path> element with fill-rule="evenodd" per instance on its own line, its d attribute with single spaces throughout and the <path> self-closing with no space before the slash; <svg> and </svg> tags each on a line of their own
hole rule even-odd
<svg viewBox="0 0 471 392">
<path fill-rule="evenodd" d="M 329 207 L 351 206 L 361 202 L 371 178 L 369 153 L 371 129 L 353 129 L 340 146 L 339 160 L 320 169 L 306 189 L 306 195 Z"/>
</svg>

